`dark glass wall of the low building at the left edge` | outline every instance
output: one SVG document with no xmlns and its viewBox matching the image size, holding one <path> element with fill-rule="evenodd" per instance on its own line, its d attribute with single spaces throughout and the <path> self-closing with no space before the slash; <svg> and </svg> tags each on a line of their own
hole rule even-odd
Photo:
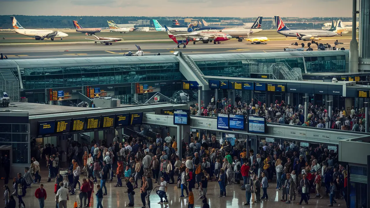
<svg viewBox="0 0 370 208">
<path fill-rule="evenodd" d="M 12 146 L 13 164 L 27 164 L 28 145 L 30 144 L 30 124 L 1 124 L 0 145 Z"/>
</svg>

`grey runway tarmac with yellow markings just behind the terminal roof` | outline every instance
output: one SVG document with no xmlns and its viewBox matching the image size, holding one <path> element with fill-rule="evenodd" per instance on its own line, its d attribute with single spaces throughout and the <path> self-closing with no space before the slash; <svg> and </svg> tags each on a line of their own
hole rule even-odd
<svg viewBox="0 0 370 208">
<path fill-rule="evenodd" d="M 184 54 L 219 54 L 219 53 L 251 53 L 251 52 L 282 52 L 283 48 L 300 48 L 301 43 L 309 41 L 298 41 L 299 46 L 292 46 L 296 40 L 277 40 L 268 41 L 267 44 L 250 44 L 248 41 L 238 42 L 237 40 L 229 40 L 221 42 L 221 44 L 199 43 L 188 44 L 186 48 L 177 48 L 175 43 L 144 43 L 139 44 L 144 51 L 144 56 L 170 55 L 174 51 L 182 51 Z M 319 43 L 329 43 L 334 46 L 335 39 L 324 39 L 317 41 Z M 341 39 L 340 47 L 349 49 L 350 39 Z M 313 46 L 316 50 L 316 45 Z M 68 50 L 68 51 L 67 51 Z M 30 59 L 30 58 L 68 58 L 68 57 L 113 57 L 122 56 L 122 54 L 131 51 L 135 53 L 137 48 L 135 44 L 120 44 L 113 43 L 112 45 L 105 44 L 65 44 L 55 46 L 13 46 L 1 48 L 1 53 L 9 59 Z"/>
</svg>

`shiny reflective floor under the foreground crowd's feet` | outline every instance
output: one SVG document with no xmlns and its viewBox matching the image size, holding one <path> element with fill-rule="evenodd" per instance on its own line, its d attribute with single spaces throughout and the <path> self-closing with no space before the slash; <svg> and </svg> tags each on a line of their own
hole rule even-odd
<svg viewBox="0 0 370 208">
<path fill-rule="evenodd" d="M 46 171 L 43 171 L 42 176 L 46 174 Z M 81 175 L 80 180 L 82 180 L 83 176 Z M 177 177 L 175 177 L 176 179 Z M 43 177 L 41 179 L 41 183 L 44 184 L 44 188 L 47 191 L 47 199 L 45 200 L 45 208 L 54 208 L 55 207 L 55 194 L 54 194 L 54 182 L 46 182 L 47 177 Z M 2 180 L 1 183 L 4 181 Z M 98 180 L 100 184 L 100 180 Z M 128 196 L 127 193 L 124 191 L 127 191 L 125 187 L 114 187 L 116 184 L 117 179 L 114 178 L 113 182 L 110 182 L 106 184 L 108 195 L 104 196 L 102 204 L 104 208 L 117 208 L 117 207 L 125 207 L 128 204 Z M 140 184 L 140 183 L 138 183 Z M 12 191 L 11 182 L 9 182 L 10 191 Z M 153 184 L 153 187 L 156 187 L 158 185 Z M 282 192 L 275 190 L 276 183 L 271 182 L 269 183 L 268 188 L 268 201 L 262 201 L 261 203 L 257 204 L 251 204 L 248 206 L 245 206 L 246 203 L 246 197 L 245 197 L 245 191 L 240 190 L 240 185 L 238 184 L 232 184 L 228 185 L 226 187 L 226 197 L 219 198 L 219 185 L 217 182 L 209 182 L 208 183 L 208 203 L 211 208 L 213 207 L 220 207 L 220 208 L 239 208 L 239 207 L 268 207 L 268 208 L 289 208 L 289 207 L 305 207 L 304 205 L 297 205 L 297 202 L 300 200 L 300 196 L 298 195 L 295 201 L 292 201 L 292 204 L 285 204 L 285 202 L 280 202 L 280 199 L 282 198 Z M 23 197 L 23 201 L 26 203 L 26 208 L 38 208 L 38 200 L 34 196 L 35 190 L 38 188 L 37 184 L 32 184 L 31 188 L 27 188 L 27 194 L 26 197 Z M 96 187 L 94 188 L 96 191 Z M 202 207 L 202 200 L 199 198 L 199 190 L 193 189 L 194 191 L 194 197 L 195 197 L 195 207 L 199 208 Z M 262 190 L 261 190 L 262 191 Z M 324 191 L 324 187 L 322 187 L 322 191 Z M 77 191 L 78 192 L 78 191 Z M 139 195 L 139 190 L 135 189 L 135 206 L 134 207 L 142 207 L 141 198 Z M 0 192 L 3 195 L 3 192 Z M 158 204 L 160 201 L 159 197 L 155 192 L 152 192 L 150 195 L 150 201 L 151 201 L 151 208 L 163 208 L 163 207 L 176 207 L 176 208 L 182 208 L 182 207 L 188 207 L 188 198 L 181 198 L 179 197 L 181 195 L 181 189 L 178 189 L 175 184 L 169 184 L 168 190 L 168 205 Z M 184 194 L 186 195 L 186 194 Z M 261 193 L 262 195 L 262 193 Z M 95 194 L 92 194 L 91 199 L 91 207 L 96 207 L 96 198 Z M 17 207 L 18 207 L 18 199 L 17 201 Z M 74 202 L 77 201 L 78 205 L 80 205 L 78 194 L 70 196 L 70 200 L 67 202 L 68 208 L 73 208 Z M 4 202 L 0 202 L 0 207 L 4 207 Z M 338 204 L 334 204 L 334 207 L 346 207 L 346 204 L 344 200 L 337 200 Z M 304 202 L 302 204 L 305 204 Z M 314 198 L 314 194 L 311 194 L 311 198 L 309 200 L 309 204 L 307 206 L 309 207 L 327 207 L 329 204 L 329 198 L 324 197 L 323 199 L 320 198 Z"/>
</svg>

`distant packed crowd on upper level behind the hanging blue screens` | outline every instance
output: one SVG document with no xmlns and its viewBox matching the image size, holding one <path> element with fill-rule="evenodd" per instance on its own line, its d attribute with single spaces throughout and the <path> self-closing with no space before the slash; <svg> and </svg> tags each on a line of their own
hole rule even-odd
<svg viewBox="0 0 370 208">
<path fill-rule="evenodd" d="M 310 126 L 317 128 L 330 128 L 346 131 L 365 132 L 365 108 L 359 110 L 352 106 L 350 113 L 344 108 L 335 108 L 332 110 L 332 117 L 325 106 L 317 106 L 308 103 L 307 121 L 305 121 L 305 106 L 287 105 L 284 101 L 275 101 L 267 106 L 265 103 L 254 101 L 251 103 L 242 102 L 236 95 L 235 103 L 231 99 L 223 98 L 218 101 L 213 97 L 211 103 L 206 107 L 201 106 L 202 116 L 217 117 L 218 114 L 236 114 L 236 115 L 258 115 L 266 117 L 268 123 L 279 123 L 289 125 Z M 199 115 L 199 106 L 195 104 L 190 107 L 192 115 Z"/>
</svg>

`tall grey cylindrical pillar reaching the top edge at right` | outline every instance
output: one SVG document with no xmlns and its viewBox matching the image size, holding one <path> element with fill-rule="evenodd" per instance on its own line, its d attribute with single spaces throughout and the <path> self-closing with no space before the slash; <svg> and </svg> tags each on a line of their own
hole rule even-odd
<svg viewBox="0 0 370 208">
<path fill-rule="evenodd" d="M 357 0 L 352 0 L 352 40 L 349 43 L 349 73 L 359 72 L 359 42 L 356 39 Z"/>
</svg>

